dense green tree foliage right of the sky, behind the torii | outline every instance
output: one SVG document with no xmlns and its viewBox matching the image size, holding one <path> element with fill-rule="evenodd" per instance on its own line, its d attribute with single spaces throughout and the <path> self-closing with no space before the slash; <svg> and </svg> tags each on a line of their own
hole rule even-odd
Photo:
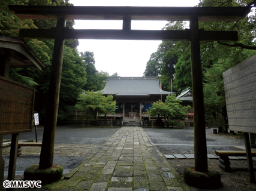
<svg viewBox="0 0 256 191">
<path fill-rule="evenodd" d="M 199 7 L 247 6 L 251 0 L 201 0 Z M 256 54 L 255 11 L 239 21 L 200 21 L 199 28 L 216 31 L 238 31 L 237 42 L 200 42 L 201 67 L 204 82 L 204 104 L 207 118 L 227 119 L 222 73 Z M 171 21 L 164 29 L 185 30 L 185 23 Z M 170 78 L 176 93 L 191 87 L 190 47 L 188 41 L 162 41 L 153 53 L 144 72 L 145 76 L 159 76 L 162 87 L 170 91 Z M 174 72 L 173 72 L 174 68 Z M 150 73 L 150 70 L 153 69 Z M 221 115 L 220 115 L 221 114 Z"/>
</svg>

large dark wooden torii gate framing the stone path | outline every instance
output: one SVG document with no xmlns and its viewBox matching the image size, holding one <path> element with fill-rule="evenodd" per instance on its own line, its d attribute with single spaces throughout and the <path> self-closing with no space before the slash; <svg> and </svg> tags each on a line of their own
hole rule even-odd
<svg viewBox="0 0 256 191">
<path fill-rule="evenodd" d="M 56 28 L 20 29 L 21 38 L 55 39 L 40 169 L 52 167 L 65 39 L 180 40 L 191 44 L 195 170 L 208 171 L 200 41 L 237 41 L 237 32 L 204 31 L 198 21 L 237 21 L 251 7 L 49 7 L 9 5 L 21 19 L 54 19 Z M 67 29 L 66 20 L 123 20 L 122 30 Z M 187 30 L 131 30 L 131 20 L 189 20 Z"/>
</svg>

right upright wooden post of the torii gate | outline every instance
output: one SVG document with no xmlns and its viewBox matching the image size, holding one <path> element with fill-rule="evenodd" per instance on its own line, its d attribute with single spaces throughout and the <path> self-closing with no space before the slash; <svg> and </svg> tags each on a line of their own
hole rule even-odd
<svg viewBox="0 0 256 191">
<path fill-rule="evenodd" d="M 189 19 L 191 30 L 190 54 L 191 54 L 191 78 L 192 97 L 194 110 L 194 155 L 195 170 L 208 171 L 206 131 L 204 119 L 203 80 L 200 60 L 200 41 L 198 30 L 198 18 Z"/>
</svg>

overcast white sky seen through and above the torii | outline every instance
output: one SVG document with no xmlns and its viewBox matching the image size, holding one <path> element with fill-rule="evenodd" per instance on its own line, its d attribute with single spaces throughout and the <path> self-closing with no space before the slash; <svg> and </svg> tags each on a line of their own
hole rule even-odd
<svg viewBox="0 0 256 191">
<path fill-rule="evenodd" d="M 74 6 L 194 7 L 199 0 L 70 0 Z M 167 21 L 132 21 L 131 29 L 161 30 Z M 75 20 L 75 29 L 122 29 L 122 21 Z M 143 76 L 150 55 L 161 41 L 79 40 L 79 52 L 94 52 L 100 72 L 119 76 Z"/>
</svg>

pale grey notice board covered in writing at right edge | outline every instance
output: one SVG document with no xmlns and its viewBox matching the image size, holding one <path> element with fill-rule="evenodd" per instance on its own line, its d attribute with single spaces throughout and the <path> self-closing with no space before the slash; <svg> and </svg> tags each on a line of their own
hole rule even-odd
<svg viewBox="0 0 256 191">
<path fill-rule="evenodd" d="M 222 76 L 230 130 L 256 133 L 256 55 Z"/>
</svg>

